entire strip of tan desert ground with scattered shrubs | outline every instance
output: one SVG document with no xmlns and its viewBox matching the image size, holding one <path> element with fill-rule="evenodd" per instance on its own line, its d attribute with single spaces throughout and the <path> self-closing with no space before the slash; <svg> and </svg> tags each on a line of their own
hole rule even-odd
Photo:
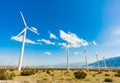
<svg viewBox="0 0 120 83">
<path fill-rule="evenodd" d="M 1 68 L 0 83 L 120 83 L 120 69 L 102 69 L 100 72 L 91 69 L 86 72 L 85 69 L 72 68 L 67 72 L 65 68 L 27 68 L 19 72 Z"/>
</svg>

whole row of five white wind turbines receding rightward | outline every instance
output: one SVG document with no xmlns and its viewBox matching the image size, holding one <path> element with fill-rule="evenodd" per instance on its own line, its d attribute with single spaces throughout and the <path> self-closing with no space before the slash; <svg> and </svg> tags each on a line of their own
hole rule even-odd
<svg viewBox="0 0 120 83">
<path fill-rule="evenodd" d="M 22 17 L 25 28 L 16 36 L 16 37 L 19 37 L 21 34 L 23 34 L 22 48 L 21 48 L 19 64 L 18 64 L 18 71 L 21 71 L 21 67 L 22 67 L 27 30 L 30 30 L 30 31 L 34 32 L 35 34 L 39 35 L 39 33 L 36 30 L 34 30 L 32 28 L 29 28 L 27 26 L 27 23 L 26 23 L 25 18 L 24 18 L 21 11 L 20 11 L 20 14 L 21 14 L 21 17 Z M 69 44 L 68 43 L 66 43 L 66 55 L 67 55 L 67 72 L 69 72 L 70 71 L 70 65 L 69 65 Z M 84 55 L 85 55 L 85 62 L 86 62 L 86 71 L 89 71 L 86 48 L 84 48 Z M 96 59 L 97 59 L 98 71 L 100 71 L 100 66 L 99 66 L 99 62 L 98 62 L 98 54 L 97 53 L 96 53 Z M 104 60 L 105 69 L 107 70 L 105 57 L 103 57 L 103 60 Z"/>
</svg>

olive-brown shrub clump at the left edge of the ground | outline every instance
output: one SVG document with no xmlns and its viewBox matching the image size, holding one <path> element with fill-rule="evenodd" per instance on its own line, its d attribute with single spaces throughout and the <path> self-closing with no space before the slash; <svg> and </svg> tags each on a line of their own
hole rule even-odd
<svg viewBox="0 0 120 83">
<path fill-rule="evenodd" d="M 0 80 L 12 80 L 14 77 L 15 77 L 15 74 L 13 72 L 0 70 Z"/>
</svg>

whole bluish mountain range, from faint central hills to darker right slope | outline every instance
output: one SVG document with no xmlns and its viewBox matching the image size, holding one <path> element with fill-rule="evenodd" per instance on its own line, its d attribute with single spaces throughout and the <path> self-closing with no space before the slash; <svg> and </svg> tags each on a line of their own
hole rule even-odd
<svg viewBox="0 0 120 83">
<path fill-rule="evenodd" d="M 105 67 L 104 65 L 104 60 L 99 60 L 99 65 L 100 67 Z M 118 68 L 120 67 L 120 56 L 118 57 L 111 57 L 108 59 L 105 59 L 106 65 L 109 68 Z M 97 61 L 88 64 L 89 67 L 97 67 Z M 61 63 L 61 64 L 57 64 L 57 65 L 51 65 L 48 67 L 59 67 L 59 68 L 65 68 L 66 67 L 66 63 Z M 81 68 L 81 67 L 85 67 L 85 63 L 84 62 L 75 62 L 75 63 L 71 63 L 70 64 L 71 68 Z"/>
</svg>

